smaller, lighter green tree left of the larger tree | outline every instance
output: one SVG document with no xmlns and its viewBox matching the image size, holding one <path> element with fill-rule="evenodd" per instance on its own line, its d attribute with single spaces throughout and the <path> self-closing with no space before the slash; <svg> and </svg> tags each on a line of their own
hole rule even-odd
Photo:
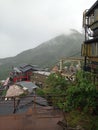
<svg viewBox="0 0 98 130">
<path fill-rule="evenodd" d="M 61 107 L 65 100 L 65 92 L 67 89 L 67 81 L 60 73 L 52 73 L 47 79 L 48 101 L 53 106 Z"/>
</svg>

